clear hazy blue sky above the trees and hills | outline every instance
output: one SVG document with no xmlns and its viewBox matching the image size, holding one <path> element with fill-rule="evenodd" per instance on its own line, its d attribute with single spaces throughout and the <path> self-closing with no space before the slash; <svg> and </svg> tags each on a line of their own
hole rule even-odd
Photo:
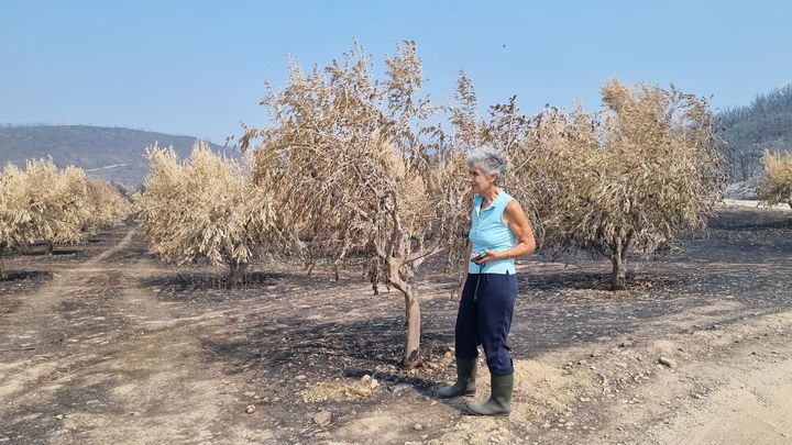
<svg viewBox="0 0 792 445">
<path fill-rule="evenodd" d="M 0 0 L 0 123 L 222 142 L 265 122 L 264 82 L 284 86 L 289 56 L 323 65 L 356 40 L 382 68 L 404 38 L 441 102 L 464 69 L 482 109 L 595 109 L 614 76 L 726 108 L 792 81 L 791 23 L 789 1 Z"/>
</svg>

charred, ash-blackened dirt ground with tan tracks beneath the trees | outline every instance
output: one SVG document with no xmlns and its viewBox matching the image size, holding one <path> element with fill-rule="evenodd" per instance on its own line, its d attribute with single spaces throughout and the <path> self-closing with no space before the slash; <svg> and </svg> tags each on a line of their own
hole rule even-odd
<svg viewBox="0 0 792 445">
<path fill-rule="evenodd" d="M 601 259 L 522 262 L 498 419 L 433 397 L 457 303 L 431 268 L 425 364 L 404 371 L 404 300 L 356 268 L 263 263 L 228 290 L 160 264 L 133 226 L 43 251 L 0 281 L 0 444 L 792 443 L 788 210 L 724 205 L 681 249 L 631 259 L 617 293 Z"/>
</svg>

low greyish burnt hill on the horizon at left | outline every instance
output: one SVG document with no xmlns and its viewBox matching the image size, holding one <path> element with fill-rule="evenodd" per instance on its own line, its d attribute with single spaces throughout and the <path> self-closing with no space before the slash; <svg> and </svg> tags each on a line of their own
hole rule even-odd
<svg viewBox="0 0 792 445">
<path fill-rule="evenodd" d="M 158 142 L 173 146 L 179 158 L 189 155 L 197 140 L 190 136 L 145 132 L 121 127 L 86 125 L 35 125 L 0 127 L 0 166 L 24 166 L 28 158 L 52 156 L 59 167 L 76 165 L 89 175 L 122 182 L 143 183 L 148 165 L 145 148 Z M 210 144 L 218 153 L 234 155 L 230 148 Z"/>
</svg>

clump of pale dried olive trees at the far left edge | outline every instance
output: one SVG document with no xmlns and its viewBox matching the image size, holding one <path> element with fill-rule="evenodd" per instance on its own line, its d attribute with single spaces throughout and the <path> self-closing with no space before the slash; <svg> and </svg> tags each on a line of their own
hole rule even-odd
<svg viewBox="0 0 792 445">
<path fill-rule="evenodd" d="M 78 167 L 58 169 L 52 159 L 9 164 L 0 175 L 0 278 L 2 255 L 36 240 L 76 243 L 96 229 L 123 220 L 130 202 L 112 185 L 86 178 Z"/>
</svg>

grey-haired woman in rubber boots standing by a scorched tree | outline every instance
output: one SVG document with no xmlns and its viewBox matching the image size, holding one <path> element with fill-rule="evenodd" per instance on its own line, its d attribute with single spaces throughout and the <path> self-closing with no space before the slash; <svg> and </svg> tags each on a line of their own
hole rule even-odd
<svg viewBox="0 0 792 445">
<path fill-rule="evenodd" d="M 477 415 L 508 415 L 514 365 L 507 336 L 517 299 L 515 258 L 528 255 L 536 241 L 522 208 L 498 187 L 505 174 L 501 153 L 481 147 L 468 155 L 473 193 L 470 258 L 460 288 L 457 314 L 457 382 L 438 390 L 442 398 L 475 393 L 479 345 L 484 346 L 492 376 L 492 396 L 481 404 L 468 404 Z"/>
</svg>

